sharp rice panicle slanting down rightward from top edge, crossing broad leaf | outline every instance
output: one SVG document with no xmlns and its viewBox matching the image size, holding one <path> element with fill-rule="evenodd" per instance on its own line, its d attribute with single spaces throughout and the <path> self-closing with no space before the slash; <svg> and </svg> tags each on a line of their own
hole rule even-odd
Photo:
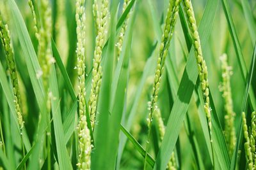
<svg viewBox="0 0 256 170">
<path fill-rule="evenodd" d="M 210 99 L 209 99 L 209 82 L 208 82 L 208 71 L 207 66 L 205 64 L 205 60 L 203 59 L 202 55 L 202 48 L 200 45 L 200 38 L 198 35 L 198 31 L 196 28 L 196 20 L 193 11 L 193 7 L 190 0 L 183 0 L 184 7 L 186 10 L 186 15 L 188 17 L 189 29 L 192 33 L 193 38 L 193 45 L 195 47 L 195 57 L 196 63 L 200 78 L 200 87 L 204 94 L 204 111 L 207 117 L 208 127 L 209 127 L 209 134 L 212 142 L 212 124 L 211 124 L 211 108 L 210 108 Z"/>
</svg>

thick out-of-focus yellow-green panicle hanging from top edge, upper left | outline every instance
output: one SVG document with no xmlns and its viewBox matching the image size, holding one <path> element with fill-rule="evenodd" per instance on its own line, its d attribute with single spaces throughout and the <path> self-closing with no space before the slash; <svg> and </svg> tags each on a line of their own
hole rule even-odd
<svg viewBox="0 0 256 170">
<path fill-rule="evenodd" d="M 47 91 L 51 64 L 54 62 L 51 52 L 52 19 L 49 1 L 42 0 L 40 7 L 42 22 L 38 33 L 38 60 L 42 67 L 44 89 Z"/>
</svg>

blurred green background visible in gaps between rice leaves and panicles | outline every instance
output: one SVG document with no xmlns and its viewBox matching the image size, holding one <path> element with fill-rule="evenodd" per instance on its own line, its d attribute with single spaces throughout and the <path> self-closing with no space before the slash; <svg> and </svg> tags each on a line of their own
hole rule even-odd
<svg viewBox="0 0 256 170">
<path fill-rule="evenodd" d="M 138 6 L 138 11 L 134 23 L 133 37 L 131 44 L 131 60 L 129 66 L 129 86 L 127 87 L 127 113 L 131 111 L 132 102 L 136 95 L 136 90 L 141 80 L 143 74 L 143 69 L 147 59 L 150 56 L 157 57 L 159 53 L 159 43 L 156 41 L 156 33 L 154 31 L 154 26 L 152 25 L 152 16 L 150 9 L 148 8 L 148 2 L 152 1 L 154 8 L 157 11 L 157 19 L 159 24 L 163 28 L 163 20 L 166 13 L 166 8 L 168 6 L 168 1 L 163 0 L 140 0 Z M 243 1 L 243 0 L 242 0 Z M 246 0 L 247 1 L 247 0 Z M 33 17 L 31 15 L 30 8 L 28 6 L 28 1 L 20 0 L 16 1 L 19 9 L 22 13 L 26 25 L 28 27 L 29 35 L 33 40 L 33 45 L 35 50 L 37 49 L 37 41 L 35 38 L 35 32 L 33 31 Z M 76 64 L 76 22 L 74 18 L 75 13 L 75 1 L 74 0 L 56 0 L 52 2 L 52 19 L 54 24 L 54 29 L 52 30 L 52 36 L 61 55 L 63 63 L 67 67 L 70 80 L 72 81 L 73 87 L 76 89 L 77 76 L 74 70 Z M 204 12 L 206 0 L 196 0 L 193 1 L 193 8 L 195 11 L 195 17 L 197 25 L 200 24 L 202 14 Z M 230 11 L 232 12 L 232 18 L 237 31 L 237 36 L 243 51 L 244 60 L 247 69 L 250 67 L 250 60 L 253 54 L 253 39 L 250 36 L 250 31 L 246 24 L 246 19 L 244 17 L 243 6 L 240 0 L 228 1 L 230 4 Z M 122 4 L 122 1 L 121 1 Z M 249 0 L 250 8 L 253 13 L 253 21 L 256 22 L 256 1 Z M 24 122 L 26 129 L 28 130 L 29 139 L 33 140 L 33 135 L 35 133 L 36 125 L 38 122 L 38 106 L 35 101 L 35 95 L 33 94 L 33 89 L 31 88 L 31 82 L 28 76 L 28 70 L 22 57 L 23 53 L 20 49 L 19 41 L 16 34 L 12 34 L 14 29 L 12 18 L 8 10 L 8 6 L 5 1 L 0 1 L 0 10 L 3 15 L 4 20 L 8 25 L 10 25 L 10 32 L 12 35 L 13 48 L 15 50 L 15 57 L 17 62 L 17 67 L 19 71 L 20 89 L 23 104 Z M 119 16 L 122 14 L 122 8 L 120 7 Z M 86 72 L 89 73 L 92 68 L 93 50 L 95 47 L 95 29 L 93 26 L 93 16 L 92 16 L 92 1 L 86 1 Z M 254 28 L 255 29 L 255 28 Z M 0 48 L 0 60 L 5 63 L 3 55 L 3 48 Z M 36 50 L 37 51 L 37 50 Z M 188 57 L 188 49 L 186 47 L 186 40 L 184 38 L 184 33 L 182 31 L 182 25 L 178 18 L 177 24 L 175 26 L 175 33 L 170 45 L 171 56 L 170 60 L 175 66 L 175 73 L 180 80 L 184 67 L 186 66 L 186 57 Z M 216 106 L 216 111 L 219 115 L 221 125 L 224 127 L 224 108 L 223 108 L 223 98 L 221 97 L 221 92 L 219 90 L 221 82 L 221 70 L 220 70 L 220 55 L 227 53 L 228 64 L 232 67 L 231 76 L 231 88 L 232 88 L 232 99 L 234 102 L 234 111 L 236 112 L 236 127 L 241 117 L 241 103 L 243 101 L 243 94 L 245 85 L 243 83 L 243 78 L 241 76 L 241 71 L 238 66 L 238 61 L 236 57 L 236 52 L 234 50 L 234 45 L 228 31 L 227 20 L 223 12 L 221 3 L 218 4 L 218 11 L 214 19 L 214 27 L 212 27 L 211 36 L 207 43 L 207 48 L 203 49 L 204 58 L 207 62 L 209 70 L 209 85 L 211 87 L 212 97 Z M 63 77 L 58 72 L 58 82 L 61 84 Z M 143 87 L 143 91 L 140 97 L 140 102 L 138 108 L 136 108 L 136 115 L 133 119 L 131 134 L 136 138 L 136 140 L 145 147 L 145 141 L 147 138 L 147 115 L 148 115 L 148 101 L 150 100 L 150 94 L 152 92 L 152 83 L 154 81 L 154 69 L 150 72 L 147 81 Z M 163 81 L 161 83 L 161 89 L 159 93 L 158 105 L 161 109 L 161 114 L 163 116 L 164 124 L 166 124 L 170 111 L 172 110 L 172 97 L 170 97 L 170 88 L 168 85 L 168 76 L 166 75 L 166 69 L 164 69 Z M 256 85 L 256 79 L 253 78 L 253 85 Z M 0 93 L 2 94 L 3 92 Z M 66 113 L 72 104 L 70 97 L 68 97 L 67 89 L 65 87 L 60 87 L 61 93 L 61 110 Z M 87 94 L 88 95 L 88 94 Z M 1 108 L 3 110 L 3 108 Z M 204 135 L 202 132 L 202 127 L 200 125 L 200 120 L 198 118 L 198 110 L 196 108 L 195 99 L 192 97 L 191 103 L 189 104 L 189 118 L 191 120 L 191 126 L 195 131 L 195 136 L 198 141 L 198 146 L 200 146 L 201 155 L 207 155 L 203 157 L 203 164 L 205 169 L 211 167 L 211 161 L 209 160 L 209 153 L 207 153 L 207 148 L 205 145 Z M 65 115 L 63 115 L 65 119 Z M 237 129 L 236 129 L 237 130 Z M 156 135 L 156 134 L 155 134 Z M 154 137 L 154 134 L 153 134 Z M 177 149 L 179 147 L 179 149 Z M 155 151 L 157 148 L 152 144 L 150 146 L 150 153 L 153 157 L 156 157 Z M 134 147 L 129 141 L 125 145 L 124 154 L 122 155 L 122 163 L 120 169 L 142 169 L 143 168 L 143 157 L 140 153 L 134 152 Z M 180 167 L 182 169 L 195 169 L 195 158 L 193 156 L 193 150 L 191 148 L 191 143 L 186 132 L 185 125 L 182 125 L 182 131 L 180 131 L 179 139 L 176 144 L 176 154 L 181 158 Z"/>
</svg>

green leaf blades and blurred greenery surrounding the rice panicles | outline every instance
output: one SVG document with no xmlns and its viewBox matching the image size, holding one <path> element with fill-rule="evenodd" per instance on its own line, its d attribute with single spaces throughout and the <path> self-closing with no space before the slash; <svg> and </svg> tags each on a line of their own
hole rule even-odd
<svg viewBox="0 0 256 170">
<path fill-rule="evenodd" d="M 40 12 L 43 1 L 49 0 L 32 1 L 36 21 L 40 24 L 44 17 Z M 28 1 L 0 2 L 3 23 L 8 24 L 12 38 L 24 119 L 24 128 L 20 129 L 6 52 L 0 43 L 0 167 L 3 169 L 78 168 L 81 150 L 77 134 L 80 115 L 76 0 L 49 2 L 52 10 L 49 53 L 55 62 L 51 64 L 47 87 L 45 79 L 38 76 L 44 66 L 38 59 L 40 42 L 35 37 Z M 156 121 L 152 122 L 147 151 L 148 101 L 154 85 L 168 0 L 131 0 L 125 11 L 122 11 L 123 0 L 109 3 L 94 129 L 88 112 L 97 36 L 92 4 L 93 0 L 85 1 L 85 114 L 93 145 L 92 154 L 87 158 L 91 169 L 143 169 L 144 162 L 146 169 L 166 169 L 173 152 L 176 169 L 246 169 L 242 112 L 247 115 L 246 121 L 251 122 L 250 115 L 256 109 L 255 1 L 192 1 L 209 72 L 212 147 L 193 36 L 184 6 L 179 5 L 157 100 L 166 131 L 161 141 Z M 127 28 L 117 60 L 116 43 L 123 24 L 127 24 Z M 228 154 L 223 134 L 226 113 L 219 89 L 219 57 L 223 53 L 227 53 L 228 66 L 233 73 L 230 85 L 237 141 L 232 155 Z"/>
</svg>

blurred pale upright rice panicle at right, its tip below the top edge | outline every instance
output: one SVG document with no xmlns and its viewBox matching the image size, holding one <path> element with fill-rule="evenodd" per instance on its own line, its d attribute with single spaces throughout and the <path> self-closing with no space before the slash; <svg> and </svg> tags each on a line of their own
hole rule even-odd
<svg viewBox="0 0 256 170">
<path fill-rule="evenodd" d="M 236 145 L 236 131 L 234 127 L 234 117 L 235 113 L 233 111 L 233 102 L 231 96 L 231 87 L 230 87 L 230 75 L 231 67 L 227 63 L 227 55 L 223 54 L 220 57 L 221 60 L 221 76 L 222 83 L 220 85 L 220 90 L 223 92 L 222 96 L 225 101 L 225 138 L 228 145 L 228 152 L 232 155 L 234 147 Z"/>
</svg>

